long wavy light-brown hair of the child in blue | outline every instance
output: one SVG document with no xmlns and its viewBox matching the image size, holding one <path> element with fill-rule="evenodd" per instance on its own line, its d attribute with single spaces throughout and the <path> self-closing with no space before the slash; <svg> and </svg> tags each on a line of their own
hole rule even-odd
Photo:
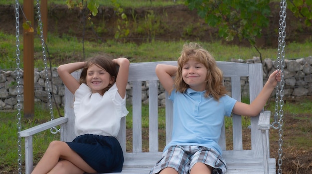
<svg viewBox="0 0 312 174">
<path fill-rule="evenodd" d="M 178 69 L 174 79 L 176 91 L 183 93 L 189 87 L 182 78 L 182 67 L 189 60 L 195 60 L 207 68 L 205 97 L 211 94 L 213 98 L 218 100 L 227 93 L 223 86 L 223 73 L 217 67 L 215 59 L 199 44 L 192 42 L 183 45 L 181 56 L 177 60 Z"/>
</svg>

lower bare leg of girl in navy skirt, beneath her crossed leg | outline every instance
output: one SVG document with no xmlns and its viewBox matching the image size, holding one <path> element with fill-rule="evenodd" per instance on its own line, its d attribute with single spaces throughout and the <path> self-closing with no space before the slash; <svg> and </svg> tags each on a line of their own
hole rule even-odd
<svg viewBox="0 0 312 174">
<path fill-rule="evenodd" d="M 60 160 L 48 174 L 84 174 L 85 172 L 67 160 Z"/>
</svg>

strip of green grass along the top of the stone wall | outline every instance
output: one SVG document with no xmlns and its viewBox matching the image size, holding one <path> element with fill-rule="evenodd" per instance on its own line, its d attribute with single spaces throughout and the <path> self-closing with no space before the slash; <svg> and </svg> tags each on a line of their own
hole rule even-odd
<svg viewBox="0 0 312 174">
<path fill-rule="evenodd" d="M 15 36 L 7 35 L 0 31 L 0 69 L 16 68 L 16 43 Z M 127 57 L 131 62 L 149 62 L 149 61 L 164 61 L 176 60 L 182 49 L 182 45 L 186 41 L 153 41 L 137 45 L 135 43 L 120 43 L 114 40 L 109 40 L 106 43 L 96 43 L 85 41 L 85 58 L 83 58 L 83 46 L 79 39 L 67 35 L 57 37 L 53 34 L 48 35 L 48 55 L 52 62 L 52 67 L 57 67 L 60 63 L 69 63 L 79 60 L 85 60 L 88 57 L 101 53 L 108 53 L 114 57 Z M 20 37 L 20 59 L 21 67 L 23 67 L 23 45 L 22 37 Z M 38 37 L 34 40 L 35 52 L 35 68 L 42 68 L 42 48 Z M 199 42 L 204 48 L 214 55 L 217 61 L 230 61 L 231 59 L 251 59 L 254 56 L 259 56 L 258 52 L 253 47 L 242 47 L 237 45 L 224 45 L 220 41 L 217 42 Z M 312 42 L 305 43 L 288 43 L 285 48 L 286 59 L 297 59 L 311 56 Z M 161 50 L 161 51 L 159 51 Z M 226 50 L 226 51 L 225 51 Z M 277 49 L 275 48 L 260 48 L 262 58 L 276 59 Z"/>
</svg>

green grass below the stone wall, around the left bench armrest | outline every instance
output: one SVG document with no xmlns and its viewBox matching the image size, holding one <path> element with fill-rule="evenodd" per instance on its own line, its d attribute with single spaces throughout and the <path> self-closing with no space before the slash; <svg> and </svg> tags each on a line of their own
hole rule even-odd
<svg viewBox="0 0 312 174">
<path fill-rule="evenodd" d="M 42 107 L 39 103 L 36 104 L 35 108 L 35 119 L 21 120 L 22 130 L 50 120 L 49 109 Z M 0 111 L 0 173 L 11 173 L 10 171 L 17 169 L 18 139 L 16 114 L 17 111 Z M 54 110 L 53 114 L 57 115 L 56 110 Z M 60 139 L 60 135 L 52 135 L 50 130 L 36 134 L 33 136 L 33 153 L 42 156 L 49 142 L 55 139 Z M 24 154 L 23 139 L 21 142 L 21 151 L 22 154 Z M 24 161 L 24 159 L 22 159 L 22 161 Z"/>
</svg>

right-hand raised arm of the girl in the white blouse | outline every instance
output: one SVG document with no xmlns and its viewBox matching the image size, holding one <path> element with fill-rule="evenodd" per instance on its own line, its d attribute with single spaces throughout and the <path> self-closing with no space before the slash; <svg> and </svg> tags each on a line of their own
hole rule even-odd
<svg viewBox="0 0 312 174">
<path fill-rule="evenodd" d="M 122 98 L 124 98 L 126 95 L 130 62 L 127 58 L 113 59 L 113 62 L 119 65 L 119 71 L 116 77 L 116 86 L 118 88 L 118 93 Z"/>
</svg>

